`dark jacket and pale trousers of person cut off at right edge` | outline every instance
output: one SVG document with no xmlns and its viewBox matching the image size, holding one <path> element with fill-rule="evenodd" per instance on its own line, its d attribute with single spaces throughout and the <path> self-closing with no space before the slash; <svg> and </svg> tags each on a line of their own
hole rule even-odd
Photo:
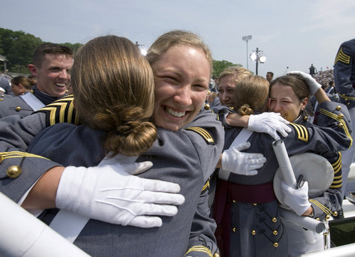
<svg viewBox="0 0 355 257">
<path fill-rule="evenodd" d="M 352 120 L 352 131 L 355 131 L 355 39 L 345 41 L 338 49 L 334 61 L 334 83 L 341 102 L 347 106 Z M 350 165 L 354 160 L 355 146 L 343 151 L 343 196 L 355 191 L 354 185 L 345 187 Z M 350 186 L 350 185 L 349 185 Z"/>
</svg>

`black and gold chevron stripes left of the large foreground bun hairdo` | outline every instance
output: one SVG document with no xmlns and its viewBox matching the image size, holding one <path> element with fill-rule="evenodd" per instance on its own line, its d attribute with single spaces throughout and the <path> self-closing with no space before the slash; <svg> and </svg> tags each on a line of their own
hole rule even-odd
<svg viewBox="0 0 355 257">
<path fill-rule="evenodd" d="M 34 113 L 45 113 L 45 126 L 57 123 L 79 124 L 79 115 L 74 109 L 74 96 L 68 95 L 48 104 Z"/>
</svg>

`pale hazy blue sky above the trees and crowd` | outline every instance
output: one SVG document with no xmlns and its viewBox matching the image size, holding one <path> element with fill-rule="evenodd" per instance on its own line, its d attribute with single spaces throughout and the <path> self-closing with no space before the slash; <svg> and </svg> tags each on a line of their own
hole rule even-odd
<svg viewBox="0 0 355 257">
<path fill-rule="evenodd" d="M 354 0 L 0 0 L 0 27 L 72 44 L 103 35 L 149 48 L 169 30 L 195 32 L 215 60 L 241 64 L 262 50 L 258 75 L 331 69 L 343 41 L 355 37 Z M 252 35 L 248 42 L 242 37 Z"/>
</svg>

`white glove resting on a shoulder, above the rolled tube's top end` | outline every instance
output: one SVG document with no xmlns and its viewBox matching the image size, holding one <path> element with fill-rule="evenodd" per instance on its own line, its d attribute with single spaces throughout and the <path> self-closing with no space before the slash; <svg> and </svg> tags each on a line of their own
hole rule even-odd
<svg viewBox="0 0 355 257">
<path fill-rule="evenodd" d="M 250 115 L 247 129 L 259 133 L 267 133 L 274 137 L 274 140 L 280 139 L 278 133 L 283 137 L 287 137 L 287 133 L 291 132 L 291 128 L 287 126 L 287 122 L 280 113 L 261 113 L 258 115 Z"/>
</svg>

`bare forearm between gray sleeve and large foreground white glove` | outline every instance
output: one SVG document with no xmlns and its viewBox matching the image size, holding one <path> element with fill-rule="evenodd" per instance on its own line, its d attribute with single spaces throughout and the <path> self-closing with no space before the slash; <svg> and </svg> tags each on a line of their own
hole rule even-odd
<svg viewBox="0 0 355 257">
<path fill-rule="evenodd" d="M 64 169 L 63 166 L 55 166 L 44 173 L 34 184 L 21 206 L 24 209 L 55 208 L 58 184 Z"/>
</svg>

